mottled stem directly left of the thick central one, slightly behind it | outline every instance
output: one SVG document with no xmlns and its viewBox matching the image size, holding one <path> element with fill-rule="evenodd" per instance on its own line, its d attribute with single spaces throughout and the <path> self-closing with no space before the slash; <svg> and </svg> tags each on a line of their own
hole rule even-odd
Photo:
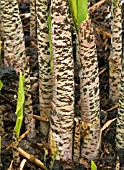
<svg viewBox="0 0 124 170">
<path fill-rule="evenodd" d="M 39 101 L 40 116 L 50 118 L 52 100 L 52 72 L 50 66 L 49 30 L 48 30 L 48 0 L 36 1 L 37 16 L 37 44 L 39 64 Z M 49 132 L 49 123 L 40 122 L 42 137 L 46 139 Z"/>
</svg>

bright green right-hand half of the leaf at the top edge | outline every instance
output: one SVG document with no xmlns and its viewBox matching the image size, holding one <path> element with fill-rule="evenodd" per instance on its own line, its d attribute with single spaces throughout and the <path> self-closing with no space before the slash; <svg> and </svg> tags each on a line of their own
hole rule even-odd
<svg viewBox="0 0 124 170">
<path fill-rule="evenodd" d="M 77 25 L 79 28 L 80 24 L 88 17 L 88 0 L 77 0 L 77 2 Z"/>
</svg>

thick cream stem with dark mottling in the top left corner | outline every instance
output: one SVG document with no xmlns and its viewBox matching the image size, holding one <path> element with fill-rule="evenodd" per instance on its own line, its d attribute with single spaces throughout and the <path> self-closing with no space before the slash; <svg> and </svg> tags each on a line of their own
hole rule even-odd
<svg viewBox="0 0 124 170">
<path fill-rule="evenodd" d="M 17 1 L 1 0 L 1 9 L 4 31 L 4 61 L 5 64 L 10 64 L 10 59 L 13 57 L 17 59 L 26 57 L 24 33 Z"/>
</svg>

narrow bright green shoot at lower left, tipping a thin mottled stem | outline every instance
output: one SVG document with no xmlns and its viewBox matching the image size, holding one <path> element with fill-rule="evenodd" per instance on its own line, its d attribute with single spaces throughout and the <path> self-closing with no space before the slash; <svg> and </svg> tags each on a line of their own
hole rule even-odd
<svg viewBox="0 0 124 170">
<path fill-rule="evenodd" d="M 20 129 L 21 129 L 21 126 L 22 126 L 24 101 L 25 101 L 24 76 L 22 75 L 22 72 L 20 71 L 18 99 L 17 99 L 17 107 L 16 107 L 16 112 L 15 112 L 17 119 L 16 119 L 16 125 L 15 125 L 15 128 L 14 128 L 17 136 L 19 136 Z"/>
</svg>

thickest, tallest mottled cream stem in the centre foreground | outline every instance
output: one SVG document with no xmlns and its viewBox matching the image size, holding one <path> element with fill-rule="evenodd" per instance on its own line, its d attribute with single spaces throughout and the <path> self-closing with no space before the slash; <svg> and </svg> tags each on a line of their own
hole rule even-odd
<svg viewBox="0 0 124 170">
<path fill-rule="evenodd" d="M 74 66 L 67 0 L 51 0 L 53 98 L 50 148 L 56 160 L 72 161 Z"/>
</svg>

